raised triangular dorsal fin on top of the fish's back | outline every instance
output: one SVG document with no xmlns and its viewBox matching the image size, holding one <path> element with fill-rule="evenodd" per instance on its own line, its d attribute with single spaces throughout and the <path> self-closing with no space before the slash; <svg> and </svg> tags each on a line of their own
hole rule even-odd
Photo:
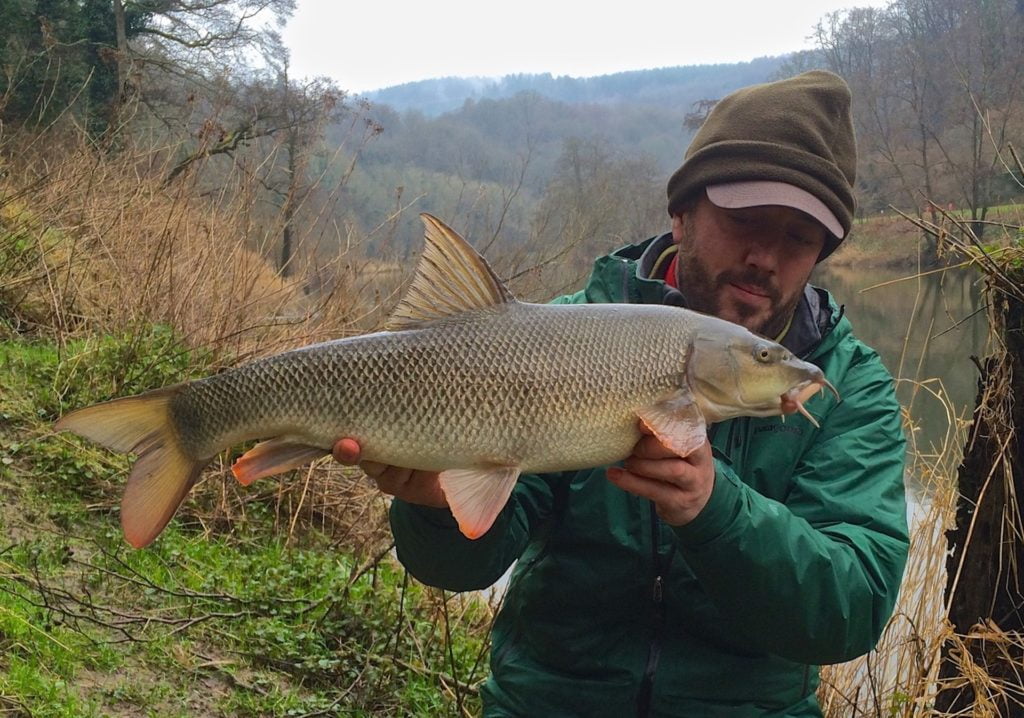
<svg viewBox="0 0 1024 718">
<path fill-rule="evenodd" d="M 471 309 L 497 306 L 515 299 L 475 249 L 433 215 L 420 215 L 426 226 L 426 247 L 413 284 L 385 329 L 413 329 Z"/>
</svg>

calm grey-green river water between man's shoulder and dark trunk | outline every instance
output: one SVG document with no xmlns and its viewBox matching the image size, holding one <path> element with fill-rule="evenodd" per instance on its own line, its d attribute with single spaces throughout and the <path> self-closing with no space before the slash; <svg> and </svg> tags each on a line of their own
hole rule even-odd
<svg viewBox="0 0 1024 718">
<path fill-rule="evenodd" d="M 942 445 L 949 426 L 947 410 L 932 391 L 945 393 L 955 416 L 971 416 L 978 380 L 971 356 L 984 354 L 988 322 L 977 272 L 914 273 L 830 268 L 826 262 L 811 282 L 831 291 L 846 306 L 854 333 L 882 355 L 916 427 L 914 442 L 927 452 Z"/>
</svg>

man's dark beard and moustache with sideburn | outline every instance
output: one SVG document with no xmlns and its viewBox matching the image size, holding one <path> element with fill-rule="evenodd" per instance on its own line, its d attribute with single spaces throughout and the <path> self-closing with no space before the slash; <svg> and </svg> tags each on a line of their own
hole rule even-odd
<svg viewBox="0 0 1024 718">
<path fill-rule="evenodd" d="M 725 269 L 713 276 L 708 265 L 697 256 L 692 243 L 688 242 L 691 230 L 690 222 L 684 220 L 684 236 L 679 243 L 679 262 L 676 269 L 676 282 L 686 297 L 686 305 L 695 311 L 721 318 L 722 294 L 727 285 L 755 287 L 770 300 L 768 314 L 751 324 L 761 310 L 748 304 L 736 303 L 734 306 L 738 323 L 755 334 L 770 339 L 778 337 L 790 323 L 803 291 L 783 297 L 772 276 L 756 267 Z"/>
</svg>

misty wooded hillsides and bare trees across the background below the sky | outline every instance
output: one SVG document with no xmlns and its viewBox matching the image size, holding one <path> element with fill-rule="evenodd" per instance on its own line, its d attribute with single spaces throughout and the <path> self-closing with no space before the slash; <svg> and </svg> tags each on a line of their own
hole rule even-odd
<svg viewBox="0 0 1024 718">
<path fill-rule="evenodd" d="M 275 235 L 254 247 L 286 272 L 353 243 L 403 257 L 419 246 L 419 211 L 476 240 L 500 233 L 501 247 L 596 254 L 660 231 L 666 179 L 714 101 L 814 67 L 854 91 L 862 217 L 890 206 L 920 215 L 932 201 L 970 213 L 981 235 L 991 207 L 1020 199 L 996 160 L 1024 123 L 1016 0 L 850 9 L 822 18 L 818 50 L 788 57 L 443 78 L 365 98 L 292 76 L 270 22 L 291 10 L 291 0 L 7 3 L 0 119 L 18 142 L 44 127 L 81 129 L 102 153 L 145 137 L 168 187 L 222 187 L 228 166 L 248 168 Z"/>
</svg>

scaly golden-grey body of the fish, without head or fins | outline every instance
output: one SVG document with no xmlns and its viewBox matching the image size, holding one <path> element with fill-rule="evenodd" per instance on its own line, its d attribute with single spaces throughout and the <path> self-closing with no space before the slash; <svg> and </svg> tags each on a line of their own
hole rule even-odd
<svg viewBox="0 0 1024 718">
<path fill-rule="evenodd" d="M 463 468 L 513 459 L 524 471 L 583 468 L 632 446 L 636 409 L 676 388 L 685 369 L 680 310 L 617 314 L 516 304 L 326 343 L 194 382 L 172 410 L 188 418 L 178 430 L 200 457 L 253 434 L 325 450 L 348 435 L 369 460 L 416 468 L 451 468 L 453 455 Z M 644 350 L 630 351 L 641 336 Z"/>
</svg>

